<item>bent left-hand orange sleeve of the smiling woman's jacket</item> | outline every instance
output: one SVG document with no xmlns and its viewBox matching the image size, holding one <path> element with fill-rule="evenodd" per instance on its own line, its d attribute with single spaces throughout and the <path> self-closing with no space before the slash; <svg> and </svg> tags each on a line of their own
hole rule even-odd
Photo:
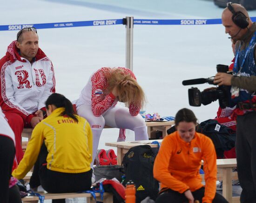
<svg viewBox="0 0 256 203">
<path fill-rule="evenodd" d="M 168 136 L 169 137 L 169 136 Z M 189 190 L 189 186 L 177 180 L 168 171 L 169 161 L 172 158 L 173 149 L 175 144 L 171 142 L 168 137 L 164 138 L 160 150 L 155 158 L 153 174 L 156 180 L 164 184 L 171 190 L 183 193 Z"/>
</svg>

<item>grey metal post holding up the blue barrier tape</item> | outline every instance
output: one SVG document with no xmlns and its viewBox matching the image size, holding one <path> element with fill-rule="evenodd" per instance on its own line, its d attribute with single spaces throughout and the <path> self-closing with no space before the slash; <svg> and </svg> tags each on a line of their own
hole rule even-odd
<svg viewBox="0 0 256 203">
<path fill-rule="evenodd" d="M 133 17 L 126 17 L 126 68 L 133 70 Z"/>
</svg>

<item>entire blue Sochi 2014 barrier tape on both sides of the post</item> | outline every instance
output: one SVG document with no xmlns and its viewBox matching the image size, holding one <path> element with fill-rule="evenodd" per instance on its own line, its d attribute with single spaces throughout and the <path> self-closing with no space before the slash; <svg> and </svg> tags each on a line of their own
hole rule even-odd
<svg viewBox="0 0 256 203">
<path fill-rule="evenodd" d="M 253 22 L 256 17 L 251 17 Z M 39 23 L 39 24 L 17 24 L 0 26 L 0 31 L 21 30 L 26 27 L 35 27 L 36 29 L 62 28 L 62 27 L 81 27 L 81 26 L 113 26 L 123 25 L 125 19 L 112 20 L 89 20 L 76 22 L 59 22 L 59 23 Z M 135 19 L 134 25 L 216 25 L 222 24 L 221 19 L 182 19 L 182 20 L 147 20 Z"/>
</svg>

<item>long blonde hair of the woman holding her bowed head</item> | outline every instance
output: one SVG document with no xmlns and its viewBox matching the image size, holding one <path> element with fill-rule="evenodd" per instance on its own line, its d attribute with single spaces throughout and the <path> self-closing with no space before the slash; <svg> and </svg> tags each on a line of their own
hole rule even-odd
<svg viewBox="0 0 256 203">
<path fill-rule="evenodd" d="M 135 104 L 141 104 L 141 107 L 145 104 L 145 94 L 141 86 L 134 78 L 129 74 L 126 74 L 122 69 L 112 68 L 105 77 L 108 83 L 108 93 L 111 92 L 118 84 L 117 94 L 120 102 L 124 102 L 126 106 L 130 105 L 132 102 Z"/>
</svg>

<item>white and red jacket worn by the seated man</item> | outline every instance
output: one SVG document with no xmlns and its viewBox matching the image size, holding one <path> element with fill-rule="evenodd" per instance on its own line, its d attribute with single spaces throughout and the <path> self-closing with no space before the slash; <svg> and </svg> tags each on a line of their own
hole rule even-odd
<svg viewBox="0 0 256 203">
<path fill-rule="evenodd" d="M 22 58 L 15 42 L 0 59 L 0 106 L 3 111 L 19 114 L 29 124 L 33 112 L 43 108 L 55 92 L 54 68 L 40 48 L 33 64 Z"/>
</svg>

